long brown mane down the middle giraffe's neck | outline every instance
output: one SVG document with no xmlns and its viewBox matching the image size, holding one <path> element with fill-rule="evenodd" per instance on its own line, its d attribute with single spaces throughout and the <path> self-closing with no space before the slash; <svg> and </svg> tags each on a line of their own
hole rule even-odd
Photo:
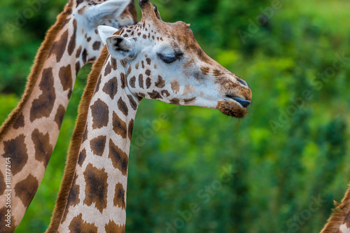
<svg viewBox="0 0 350 233">
<path fill-rule="evenodd" d="M 64 169 L 62 185 L 59 189 L 55 211 L 51 218 L 50 227 L 46 231 L 48 233 L 57 232 L 59 223 L 61 222 L 64 209 L 67 204 L 69 191 L 71 190 L 71 186 L 73 184 L 73 177 L 78 163 L 80 144 L 83 140 L 83 134 L 85 132 L 87 112 L 89 111 L 90 101 L 94 94 L 94 90 L 96 89 L 99 74 L 102 71 L 102 67 L 108 55 L 108 51 L 106 47 L 104 47 L 101 55 L 99 56 L 99 59 L 97 59 L 97 62 L 92 66 L 92 71 L 89 75 L 89 78 L 87 79 L 87 85 L 85 87 L 85 91 L 79 105 L 78 120 L 76 121 L 76 127 L 74 128 L 73 136 L 71 139 L 68 159 L 66 162 L 66 168 Z"/>
</svg>

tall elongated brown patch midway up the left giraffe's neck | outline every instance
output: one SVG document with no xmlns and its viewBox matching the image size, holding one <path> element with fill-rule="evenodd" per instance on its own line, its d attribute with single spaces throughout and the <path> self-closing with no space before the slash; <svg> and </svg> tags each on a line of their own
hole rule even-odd
<svg viewBox="0 0 350 233">
<path fill-rule="evenodd" d="M 53 105 L 55 104 L 56 94 L 54 80 L 52 76 L 52 68 L 44 69 L 39 84 L 41 95 L 38 99 L 34 99 L 30 108 L 30 121 L 50 116 Z"/>
</svg>

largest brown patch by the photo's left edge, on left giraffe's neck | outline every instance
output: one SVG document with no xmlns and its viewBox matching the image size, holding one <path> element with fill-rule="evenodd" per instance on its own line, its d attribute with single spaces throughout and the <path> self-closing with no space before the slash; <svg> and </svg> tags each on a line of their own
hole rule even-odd
<svg viewBox="0 0 350 233">
<path fill-rule="evenodd" d="M 3 153 L 2 157 L 11 158 L 11 172 L 13 176 L 25 167 L 28 160 L 27 145 L 25 144 L 25 135 L 8 141 L 3 141 Z"/>
</svg>

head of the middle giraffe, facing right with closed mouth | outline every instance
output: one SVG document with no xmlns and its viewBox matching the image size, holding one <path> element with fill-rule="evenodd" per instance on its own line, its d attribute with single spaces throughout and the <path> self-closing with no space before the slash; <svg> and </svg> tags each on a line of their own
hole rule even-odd
<svg viewBox="0 0 350 233">
<path fill-rule="evenodd" d="M 189 24 L 163 22 L 149 1 L 139 0 L 139 5 L 138 24 L 120 31 L 99 26 L 109 54 L 125 64 L 122 79 L 130 92 L 139 99 L 216 108 L 243 118 L 251 104 L 246 81 L 206 55 Z"/>
</svg>

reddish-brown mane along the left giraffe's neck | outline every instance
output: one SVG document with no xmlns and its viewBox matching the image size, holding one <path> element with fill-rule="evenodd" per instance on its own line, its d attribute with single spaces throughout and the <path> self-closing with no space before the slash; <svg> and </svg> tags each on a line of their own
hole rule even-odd
<svg viewBox="0 0 350 233">
<path fill-rule="evenodd" d="M 18 106 L 10 113 L 10 115 L 8 115 L 8 118 L 5 122 L 3 122 L 3 125 L 1 125 L 0 127 L 0 141 L 3 140 L 3 136 L 6 135 L 8 129 L 10 129 L 10 127 L 15 123 L 15 120 L 17 120 L 25 104 L 27 104 L 31 93 L 34 90 L 34 85 L 38 80 L 38 77 L 40 76 L 40 71 L 43 69 L 45 59 L 48 58 L 52 45 L 53 43 L 55 43 L 57 33 L 60 29 L 62 29 L 66 17 L 71 13 L 72 7 L 73 1 L 69 1 L 69 3 L 64 8 L 64 11 L 57 16 L 55 24 L 52 27 L 50 27 L 50 29 L 46 33 L 45 39 L 43 43 L 41 43 L 41 46 L 38 49 L 38 52 L 36 53 L 34 64 L 33 66 L 31 66 L 31 72 L 28 76 L 27 85 L 25 87 L 25 93 L 22 95 L 22 99 L 20 100 Z"/>
</svg>

